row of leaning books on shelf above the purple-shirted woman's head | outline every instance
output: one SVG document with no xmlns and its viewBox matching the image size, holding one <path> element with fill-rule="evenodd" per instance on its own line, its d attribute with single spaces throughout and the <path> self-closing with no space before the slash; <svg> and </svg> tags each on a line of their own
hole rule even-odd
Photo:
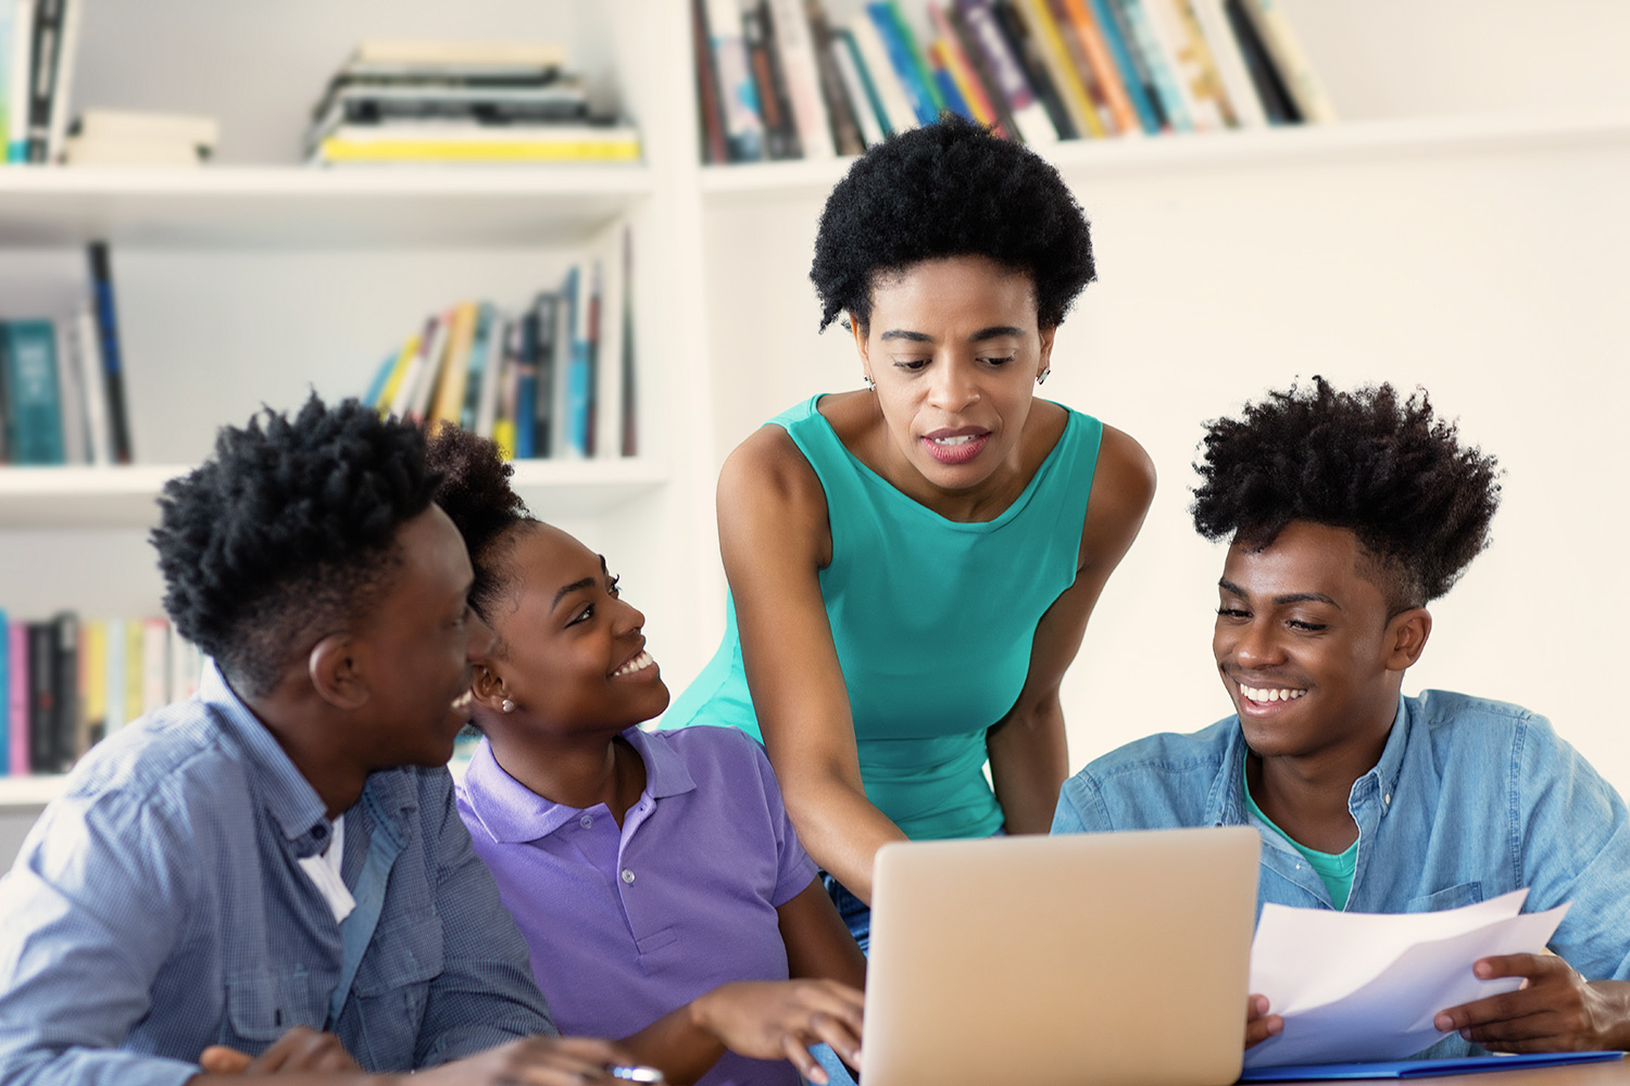
<svg viewBox="0 0 1630 1086">
<path fill-rule="evenodd" d="M 518 311 L 461 301 L 430 314 L 380 363 L 363 402 L 463 427 L 513 459 L 636 456 L 631 256 L 618 230 Z"/>
</svg>

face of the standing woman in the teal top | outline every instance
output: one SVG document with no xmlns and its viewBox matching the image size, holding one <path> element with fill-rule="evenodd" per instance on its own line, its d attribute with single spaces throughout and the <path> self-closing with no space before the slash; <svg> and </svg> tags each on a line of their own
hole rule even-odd
<svg viewBox="0 0 1630 1086">
<path fill-rule="evenodd" d="M 1037 324 L 1035 285 L 986 257 L 923 261 L 872 287 L 856 327 L 888 427 L 882 474 L 968 492 L 1019 471 L 1019 440 L 1056 329 Z"/>
</svg>

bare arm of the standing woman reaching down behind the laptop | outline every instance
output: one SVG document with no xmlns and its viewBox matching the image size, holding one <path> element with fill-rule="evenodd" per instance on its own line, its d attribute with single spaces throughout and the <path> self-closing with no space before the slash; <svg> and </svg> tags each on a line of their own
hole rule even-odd
<svg viewBox="0 0 1630 1086">
<path fill-rule="evenodd" d="M 719 474 L 719 550 L 764 752 L 804 848 L 864 902 L 872 856 L 905 840 L 861 785 L 849 695 L 820 594 L 826 495 L 779 427 L 743 441 Z"/>
</svg>

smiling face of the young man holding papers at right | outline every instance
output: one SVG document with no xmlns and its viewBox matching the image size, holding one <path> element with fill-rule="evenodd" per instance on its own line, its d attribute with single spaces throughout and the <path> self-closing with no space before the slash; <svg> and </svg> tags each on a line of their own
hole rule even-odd
<svg viewBox="0 0 1630 1086">
<path fill-rule="evenodd" d="M 1229 547 L 1211 648 L 1263 759 L 1350 760 L 1363 773 L 1381 755 L 1431 619 L 1421 607 L 1389 617 L 1376 570 L 1351 531 L 1306 521 L 1260 550 Z"/>
</svg>

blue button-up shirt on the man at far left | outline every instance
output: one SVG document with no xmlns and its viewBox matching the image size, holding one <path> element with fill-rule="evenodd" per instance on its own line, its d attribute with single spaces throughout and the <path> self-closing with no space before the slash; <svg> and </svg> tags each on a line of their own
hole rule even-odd
<svg viewBox="0 0 1630 1086">
<path fill-rule="evenodd" d="M 331 834 L 214 668 L 98 744 L 0 879 L 0 1083 L 173 1086 L 300 1024 L 370 1071 L 553 1032 L 445 769 L 368 777 L 344 925 L 298 866 Z"/>
</svg>

